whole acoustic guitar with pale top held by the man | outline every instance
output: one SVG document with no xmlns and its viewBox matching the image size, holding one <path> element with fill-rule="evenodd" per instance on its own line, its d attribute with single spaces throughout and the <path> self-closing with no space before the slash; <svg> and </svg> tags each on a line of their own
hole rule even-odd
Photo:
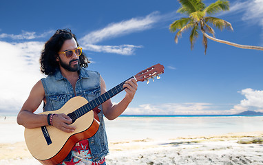
<svg viewBox="0 0 263 165">
<path fill-rule="evenodd" d="M 149 83 L 150 78 L 157 77 L 159 79 L 160 74 L 164 73 L 164 69 L 162 65 L 156 64 L 131 78 L 135 78 L 136 81 L 147 80 Z M 94 118 L 94 115 L 96 117 L 96 113 L 94 113 L 96 107 L 123 91 L 125 81 L 90 102 L 81 96 L 76 96 L 68 100 L 61 109 L 52 111 L 52 113 L 65 113 L 70 116 L 72 125 L 76 126 L 72 133 L 66 133 L 54 126 L 25 128 L 25 143 L 32 156 L 38 159 L 41 164 L 53 165 L 62 162 L 76 142 L 90 138 L 98 131 L 99 121 L 98 118 Z M 50 111 L 40 114 L 48 113 Z"/>
</svg>

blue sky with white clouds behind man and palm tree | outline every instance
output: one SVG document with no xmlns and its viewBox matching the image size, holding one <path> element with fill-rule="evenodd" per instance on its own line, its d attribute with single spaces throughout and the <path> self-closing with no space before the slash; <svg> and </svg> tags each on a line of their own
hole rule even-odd
<svg viewBox="0 0 263 165">
<path fill-rule="evenodd" d="M 209 5 L 214 1 L 206 0 Z M 234 31 L 215 37 L 263 46 L 263 1 L 230 1 L 215 17 Z M 42 77 L 39 56 L 57 29 L 70 28 L 107 89 L 160 63 L 165 74 L 153 83 L 138 83 L 124 114 L 184 115 L 263 112 L 263 52 L 208 41 L 202 35 L 190 49 L 189 32 L 176 44 L 169 25 L 184 17 L 176 0 L 145 1 L 2 1 L 0 5 L 0 112 L 17 113 L 32 86 Z M 112 98 L 119 102 L 125 92 Z M 41 109 L 38 110 L 39 112 Z"/>
</svg>

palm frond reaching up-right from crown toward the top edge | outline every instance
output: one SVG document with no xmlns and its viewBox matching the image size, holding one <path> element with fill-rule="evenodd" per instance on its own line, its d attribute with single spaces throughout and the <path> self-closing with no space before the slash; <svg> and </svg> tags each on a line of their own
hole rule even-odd
<svg viewBox="0 0 263 165">
<path fill-rule="evenodd" d="M 218 0 L 215 3 L 211 3 L 209 6 L 207 6 L 207 8 L 204 9 L 204 12 L 211 15 L 226 10 L 229 10 L 229 1 Z"/>
</svg>

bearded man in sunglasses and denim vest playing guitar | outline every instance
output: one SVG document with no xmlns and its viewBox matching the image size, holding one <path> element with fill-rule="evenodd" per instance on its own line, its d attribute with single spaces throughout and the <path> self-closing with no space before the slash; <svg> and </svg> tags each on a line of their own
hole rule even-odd
<svg viewBox="0 0 263 165">
<path fill-rule="evenodd" d="M 74 96 L 82 96 L 91 101 L 104 94 L 105 82 L 98 72 L 84 69 L 89 61 L 70 30 L 57 30 L 45 43 L 40 63 L 41 72 L 48 77 L 34 85 L 17 116 L 17 123 L 29 129 L 52 125 L 67 133 L 74 132 L 76 128 L 70 125 L 70 117 L 64 113 L 52 114 L 52 111 L 63 107 Z M 114 105 L 109 99 L 100 106 L 100 126 L 96 134 L 78 142 L 61 164 L 106 164 L 105 156 L 109 150 L 103 115 L 114 120 L 125 111 L 136 93 L 136 80 L 127 80 L 123 87 L 126 91 L 125 98 Z M 49 115 L 34 113 L 42 101 L 43 111 L 50 111 Z"/>
</svg>

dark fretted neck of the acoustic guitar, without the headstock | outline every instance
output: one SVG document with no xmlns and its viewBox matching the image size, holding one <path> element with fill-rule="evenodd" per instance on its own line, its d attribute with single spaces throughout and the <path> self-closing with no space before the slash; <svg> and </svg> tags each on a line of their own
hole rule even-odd
<svg viewBox="0 0 263 165">
<path fill-rule="evenodd" d="M 134 78 L 134 76 L 132 76 L 131 78 Z M 129 80 L 131 78 L 128 78 L 127 80 Z M 105 92 L 101 96 L 98 96 L 94 100 L 88 102 L 87 104 L 83 105 L 79 109 L 76 109 L 76 111 L 74 111 L 68 115 L 70 116 L 70 118 L 72 118 L 72 120 L 76 120 L 77 118 L 80 118 L 85 113 L 91 111 L 95 107 L 98 107 L 100 104 L 103 104 L 103 102 L 105 102 L 105 101 L 109 100 L 110 98 L 113 98 L 114 96 L 116 96 L 116 94 L 120 93 L 120 91 L 123 91 L 124 90 L 123 85 L 125 84 L 125 82 L 127 80 L 123 81 L 123 83 L 120 83 L 116 87 L 110 89 L 109 91 Z"/>
</svg>

